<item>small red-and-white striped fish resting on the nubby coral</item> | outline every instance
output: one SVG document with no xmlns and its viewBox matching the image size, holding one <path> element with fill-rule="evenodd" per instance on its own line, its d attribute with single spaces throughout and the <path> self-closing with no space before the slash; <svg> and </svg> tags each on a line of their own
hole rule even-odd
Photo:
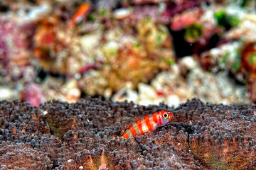
<svg viewBox="0 0 256 170">
<path fill-rule="evenodd" d="M 132 125 L 122 131 L 121 137 L 129 138 L 135 137 L 145 132 L 153 131 L 166 123 L 169 123 L 171 118 L 174 116 L 169 111 L 160 111 L 150 115 L 144 115 L 143 118 L 139 118 Z"/>
</svg>

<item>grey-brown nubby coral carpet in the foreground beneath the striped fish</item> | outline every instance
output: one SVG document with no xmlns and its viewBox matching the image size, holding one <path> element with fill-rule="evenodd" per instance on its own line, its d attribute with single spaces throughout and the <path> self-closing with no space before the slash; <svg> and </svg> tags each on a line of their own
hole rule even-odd
<svg viewBox="0 0 256 170">
<path fill-rule="evenodd" d="M 255 169 L 255 105 L 187 101 L 178 108 L 87 98 L 40 107 L 0 102 L 1 169 Z M 123 139 L 142 115 L 167 110 L 171 123 Z M 48 111 L 46 112 L 43 111 Z"/>
</svg>

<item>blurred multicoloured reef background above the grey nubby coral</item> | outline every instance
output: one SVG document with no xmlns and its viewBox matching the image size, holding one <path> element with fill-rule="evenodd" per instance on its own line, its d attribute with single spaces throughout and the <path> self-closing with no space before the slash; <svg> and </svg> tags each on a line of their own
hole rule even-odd
<svg viewBox="0 0 256 170">
<path fill-rule="evenodd" d="M 255 1 L 1 1 L 0 99 L 252 103 Z"/>
</svg>

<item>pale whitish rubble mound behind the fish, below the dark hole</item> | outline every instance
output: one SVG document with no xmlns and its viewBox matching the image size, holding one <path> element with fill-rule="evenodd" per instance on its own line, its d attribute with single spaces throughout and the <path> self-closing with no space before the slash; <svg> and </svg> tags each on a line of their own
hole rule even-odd
<svg viewBox="0 0 256 170">
<path fill-rule="evenodd" d="M 133 101 L 144 106 L 164 102 L 176 107 L 196 96 L 209 103 L 251 103 L 248 88 L 235 84 L 229 74 L 228 71 L 204 72 L 198 61 L 187 56 L 173 64 L 170 71 L 157 74 L 149 85 L 140 83 L 138 91 L 124 88 L 114 94 L 112 100 Z"/>
</svg>

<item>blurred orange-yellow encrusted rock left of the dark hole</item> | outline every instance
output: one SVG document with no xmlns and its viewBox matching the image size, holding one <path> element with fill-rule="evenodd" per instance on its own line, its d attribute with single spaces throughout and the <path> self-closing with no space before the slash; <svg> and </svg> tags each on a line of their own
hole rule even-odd
<svg viewBox="0 0 256 170">
<path fill-rule="evenodd" d="M 166 26 L 154 23 L 150 18 L 125 26 L 136 30 L 127 34 L 122 27 L 106 30 L 100 51 L 100 69 L 90 70 L 78 80 L 80 90 L 90 96 L 102 95 L 107 89 L 117 92 L 127 82 L 136 89 L 140 82 L 146 83 L 159 72 L 169 69 L 174 62 L 171 36 Z M 129 72 L 129 74 L 125 74 Z M 118 84 L 118 86 L 117 86 Z"/>
</svg>

